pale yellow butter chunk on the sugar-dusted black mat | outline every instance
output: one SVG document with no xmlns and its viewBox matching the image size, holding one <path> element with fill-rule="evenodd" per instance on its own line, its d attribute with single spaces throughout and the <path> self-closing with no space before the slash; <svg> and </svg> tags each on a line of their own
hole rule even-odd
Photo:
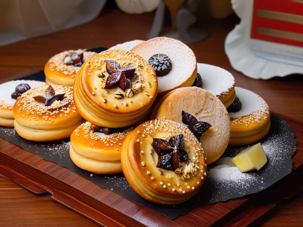
<svg viewBox="0 0 303 227">
<path fill-rule="evenodd" d="M 267 158 L 261 143 L 257 143 L 242 150 L 231 161 L 243 173 L 253 169 L 261 169 L 267 162 Z"/>
</svg>

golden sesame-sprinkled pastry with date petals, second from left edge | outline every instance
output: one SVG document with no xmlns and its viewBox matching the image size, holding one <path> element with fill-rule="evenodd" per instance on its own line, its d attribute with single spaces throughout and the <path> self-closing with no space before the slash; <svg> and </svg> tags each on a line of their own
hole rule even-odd
<svg viewBox="0 0 303 227">
<path fill-rule="evenodd" d="M 72 89 L 63 85 L 26 91 L 15 102 L 13 113 L 16 132 L 27 140 L 61 140 L 83 123 Z"/>
</svg>

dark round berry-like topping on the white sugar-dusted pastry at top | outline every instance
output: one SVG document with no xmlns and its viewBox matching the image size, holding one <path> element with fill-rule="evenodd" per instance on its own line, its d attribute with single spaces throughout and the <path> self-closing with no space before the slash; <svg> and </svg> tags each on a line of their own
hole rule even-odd
<svg viewBox="0 0 303 227">
<path fill-rule="evenodd" d="M 165 54 L 154 54 L 148 59 L 148 64 L 154 68 L 158 77 L 165 76 L 171 71 L 171 60 Z"/>
</svg>

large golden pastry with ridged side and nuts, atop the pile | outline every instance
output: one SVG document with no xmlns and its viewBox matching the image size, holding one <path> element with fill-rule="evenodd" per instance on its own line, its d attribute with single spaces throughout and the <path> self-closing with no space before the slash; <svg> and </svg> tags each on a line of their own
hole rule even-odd
<svg viewBox="0 0 303 227">
<path fill-rule="evenodd" d="M 158 81 L 154 69 L 138 54 L 107 50 L 83 64 L 73 89 L 85 120 L 117 128 L 149 118 Z"/>
</svg>

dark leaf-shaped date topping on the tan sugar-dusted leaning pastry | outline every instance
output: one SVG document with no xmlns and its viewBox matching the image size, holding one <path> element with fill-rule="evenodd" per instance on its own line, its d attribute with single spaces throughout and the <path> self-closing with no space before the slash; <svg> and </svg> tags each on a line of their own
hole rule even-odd
<svg viewBox="0 0 303 227">
<path fill-rule="evenodd" d="M 198 121 L 193 115 L 182 110 L 182 122 L 191 130 L 192 133 L 200 141 L 200 137 L 211 125 L 204 121 Z"/>
</svg>

